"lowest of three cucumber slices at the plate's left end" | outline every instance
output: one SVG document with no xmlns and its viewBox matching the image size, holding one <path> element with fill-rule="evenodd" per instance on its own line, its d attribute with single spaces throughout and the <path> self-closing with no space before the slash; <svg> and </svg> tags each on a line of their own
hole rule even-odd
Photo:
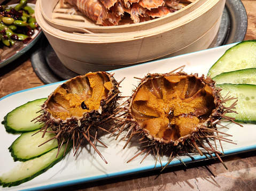
<svg viewBox="0 0 256 191">
<path fill-rule="evenodd" d="M 63 144 L 57 157 L 56 155 L 58 153 L 58 148 L 55 148 L 40 157 L 26 162 L 20 162 L 9 172 L 6 172 L 0 176 L 0 185 L 3 185 L 3 187 L 18 186 L 37 177 L 38 175 L 41 175 L 43 172 L 50 169 L 53 167 L 53 165 L 63 159 L 64 153 L 66 155 L 72 148 L 72 145 L 73 144 L 71 142 L 68 143 L 65 153 L 66 144 Z"/>
</svg>

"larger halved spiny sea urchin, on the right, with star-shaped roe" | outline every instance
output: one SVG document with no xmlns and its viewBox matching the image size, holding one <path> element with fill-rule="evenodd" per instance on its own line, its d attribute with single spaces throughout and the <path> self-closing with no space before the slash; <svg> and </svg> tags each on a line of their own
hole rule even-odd
<svg viewBox="0 0 256 191">
<path fill-rule="evenodd" d="M 221 89 L 215 87 L 210 77 L 174 71 L 148 73 L 141 79 L 127 101 L 125 117 L 117 122 L 116 128 L 120 131 L 129 129 L 126 134 L 129 137 L 127 144 L 133 136 L 139 136 L 139 143 L 144 145 L 144 150 L 136 156 L 143 152 L 148 155 L 153 151 L 161 162 L 160 153 L 169 150 L 169 164 L 179 153 L 214 153 L 222 162 L 219 154 L 223 153 L 216 150 L 211 140 L 219 140 L 220 145 L 221 141 L 232 143 L 222 136 L 231 135 L 218 130 L 218 127 L 224 126 L 216 125 L 223 120 L 234 122 L 233 118 L 225 114 L 234 112 L 232 109 L 237 100 L 225 107 L 224 102 L 235 98 L 222 97 Z M 127 121 L 126 128 L 123 121 Z"/>
</svg>

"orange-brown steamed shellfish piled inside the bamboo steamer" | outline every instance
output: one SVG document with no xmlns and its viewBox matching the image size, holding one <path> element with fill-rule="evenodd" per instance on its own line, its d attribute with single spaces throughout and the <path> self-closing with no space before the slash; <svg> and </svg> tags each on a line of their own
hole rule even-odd
<svg viewBox="0 0 256 191">
<path fill-rule="evenodd" d="M 134 23 L 159 18 L 182 9 L 193 0 L 60 0 L 61 7 L 67 2 L 96 24 L 118 25 L 125 15 Z"/>
</svg>

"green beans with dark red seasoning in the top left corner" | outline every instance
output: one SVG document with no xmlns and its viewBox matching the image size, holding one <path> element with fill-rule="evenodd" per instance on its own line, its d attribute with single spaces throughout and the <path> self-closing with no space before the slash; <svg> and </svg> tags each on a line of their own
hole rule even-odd
<svg viewBox="0 0 256 191">
<path fill-rule="evenodd" d="M 39 27 L 27 0 L 14 7 L 0 5 L 0 19 L 0 59 L 3 60 L 12 50 L 17 51 L 32 40 Z"/>
</svg>

